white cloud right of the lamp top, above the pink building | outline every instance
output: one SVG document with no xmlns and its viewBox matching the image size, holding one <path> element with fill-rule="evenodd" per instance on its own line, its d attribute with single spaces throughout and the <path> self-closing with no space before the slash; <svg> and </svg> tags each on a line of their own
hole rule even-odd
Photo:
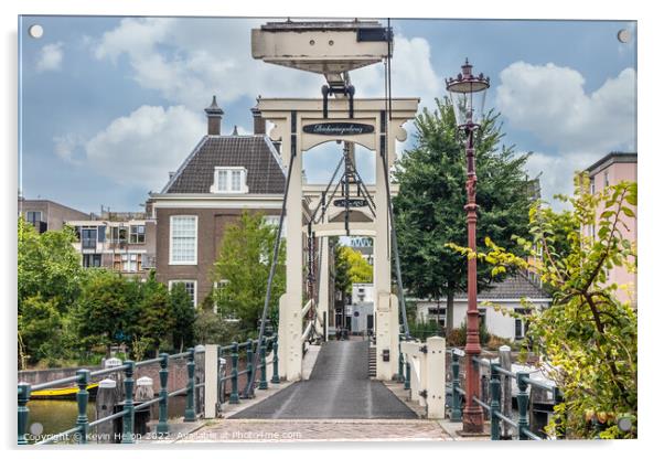
<svg viewBox="0 0 664 459">
<path fill-rule="evenodd" d="M 593 93 L 583 76 L 555 64 L 516 62 L 500 74 L 496 105 L 517 129 L 560 152 L 634 149 L 636 73 L 623 70 Z"/>
</svg>

